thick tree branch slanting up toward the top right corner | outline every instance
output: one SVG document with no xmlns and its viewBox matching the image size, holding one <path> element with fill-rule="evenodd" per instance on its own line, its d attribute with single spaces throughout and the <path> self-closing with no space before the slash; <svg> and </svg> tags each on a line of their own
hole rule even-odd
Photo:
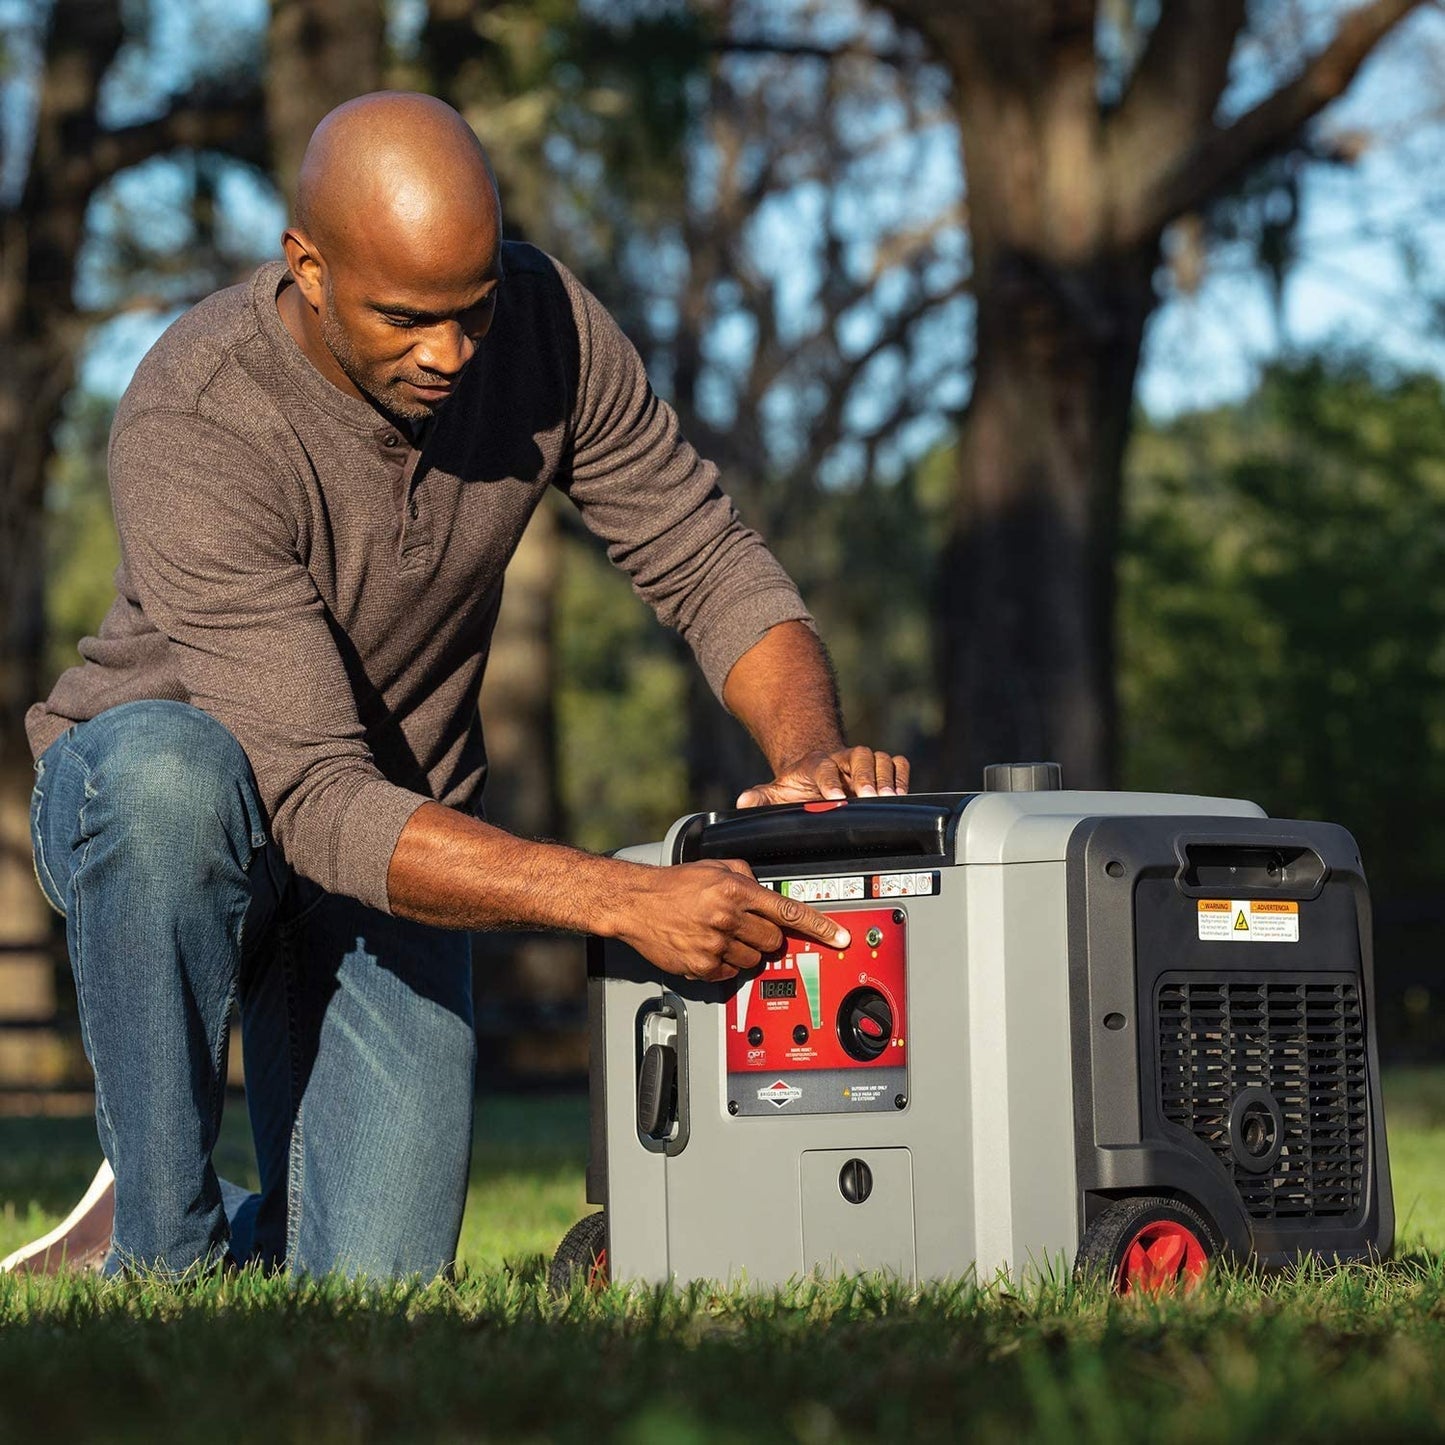
<svg viewBox="0 0 1445 1445">
<path fill-rule="evenodd" d="M 1289 149 L 1299 131 L 1344 94 L 1376 45 L 1425 0 L 1370 0 L 1350 12 L 1335 38 L 1295 79 L 1246 111 L 1231 126 L 1209 126 L 1144 198 L 1126 240 L 1144 241 L 1169 221 L 1196 210 L 1241 172 Z"/>
</svg>

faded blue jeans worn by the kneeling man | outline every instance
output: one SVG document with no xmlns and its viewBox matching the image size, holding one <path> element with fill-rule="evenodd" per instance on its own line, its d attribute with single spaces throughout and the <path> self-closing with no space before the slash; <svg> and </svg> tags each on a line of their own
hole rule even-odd
<svg viewBox="0 0 1445 1445">
<path fill-rule="evenodd" d="M 471 1150 L 467 935 L 292 873 L 240 744 L 181 702 L 111 708 L 48 749 L 30 838 L 116 1172 L 107 1269 L 228 1250 L 308 1274 L 447 1269 Z M 262 1188 L 228 1215 L 211 1152 L 233 1003 Z"/>
</svg>

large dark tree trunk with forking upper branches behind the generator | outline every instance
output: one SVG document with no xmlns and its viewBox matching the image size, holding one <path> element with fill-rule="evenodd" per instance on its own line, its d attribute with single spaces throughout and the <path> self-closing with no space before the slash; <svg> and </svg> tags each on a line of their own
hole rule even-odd
<svg viewBox="0 0 1445 1445">
<path fill-rule="evenodd" d="M 951 74 L 968 176 L 977 351 L 939 600 L 942 780 L 1051 757 L 1065 785 L 1105 786 L 1120 470 L 1163 228 L 1298 144 L 1420 0 L 1350 9 L 1227 124 L 1244 0 L 1163 0 L 1108 110 L 1097 0 L 881 3 Z"/>
</svg>

